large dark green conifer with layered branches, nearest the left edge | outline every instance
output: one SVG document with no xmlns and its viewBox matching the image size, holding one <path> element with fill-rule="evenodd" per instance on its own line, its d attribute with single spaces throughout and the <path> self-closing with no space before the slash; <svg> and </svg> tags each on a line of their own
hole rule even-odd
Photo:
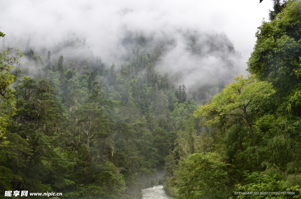
<svg viewBox="0 0 301 199">
<path fill-rule="evenodd" d="M 47 192 L 64 187 L 68 163 L 55 149 L 64 137 L 64 109 L 55 100 L 57 93 L 45 79 L 26 78 L 15 89 L 17 112 L 8 125 L 10 143 L 0 150 L 2 167 L 14 175 L 12 188 Z"/>
</svg>

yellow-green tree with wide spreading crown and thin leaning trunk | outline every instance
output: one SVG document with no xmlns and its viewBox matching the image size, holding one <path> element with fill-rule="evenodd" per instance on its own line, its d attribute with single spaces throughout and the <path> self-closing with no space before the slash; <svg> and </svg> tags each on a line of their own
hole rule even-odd
<svg viewBox="0 0 301 199">
<path fill-rule="evenodd" d="M 243 75 L 234 78 L 234 82 L 212 97 L 208 104 L 201 106 L 194 112 L 194 117 L 205 116 L 206 125 L 214 125 L 225 116 L 238 116 L 255 146 L 253 133 L 254 114 L 251 110 L 258 109 L 262 103 L 275 93 L 271 83 L 258 81 L 256 75 Z"/>
</svg>

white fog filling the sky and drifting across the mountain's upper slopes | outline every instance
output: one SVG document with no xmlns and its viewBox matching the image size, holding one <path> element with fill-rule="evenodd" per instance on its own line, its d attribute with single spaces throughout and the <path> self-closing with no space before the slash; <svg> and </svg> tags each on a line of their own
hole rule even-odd
<svg viewBox="0 0 301 199">
<path fill-rule="evenodd" d="M 149 49 L 170 41 L 157 70 L 191 89 L 208 81 L 229 83 L 246 73 L 256 29 L 268 18 L 271 4 L 270 0 L 2 1 L 0 31 L 6 36 L 0 45 L 22 51 L 30 41 L 46 56 L 54 46 L 85 39 L 95 56 L 118 67 L 129 51 L 123 42 L 129 34 L 143 35 L 151 43 Z M 212 46 L 216 49 L 209 49 Z M 74 55 L 66 49 L 59 53 L 57 57 Z"/>
</svg>

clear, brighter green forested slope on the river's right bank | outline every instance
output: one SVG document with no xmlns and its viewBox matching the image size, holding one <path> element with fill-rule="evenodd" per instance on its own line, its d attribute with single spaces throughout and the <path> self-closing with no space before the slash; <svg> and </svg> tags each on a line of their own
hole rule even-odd
<svg viewBox="0 0 301 199">
<path fill-rule="evenodd" d="M 173 197 L 300 197 L 301 1 L 274 1 L 274 9 L 256 32 L 250 74 L 194 112 L 209 131 L 187 125 L 189 151 L 179 144 L 166 157 Z"/>
</svg>

